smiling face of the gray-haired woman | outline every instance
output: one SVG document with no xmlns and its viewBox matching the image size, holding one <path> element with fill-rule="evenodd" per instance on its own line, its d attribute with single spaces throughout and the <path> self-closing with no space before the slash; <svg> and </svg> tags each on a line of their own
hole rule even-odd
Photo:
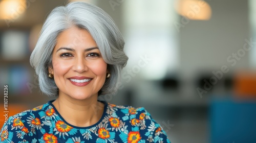
<svg viewBox="0 0 256 143">
<path fill-rule="evenodd" d="M 59 96 L 76 100 L 97 96 L 106 78 L 107 64 L 91 34 L 72 27 L 61 32 L 52 54 L 49 73 L 59 89 Z"/>
</svg>

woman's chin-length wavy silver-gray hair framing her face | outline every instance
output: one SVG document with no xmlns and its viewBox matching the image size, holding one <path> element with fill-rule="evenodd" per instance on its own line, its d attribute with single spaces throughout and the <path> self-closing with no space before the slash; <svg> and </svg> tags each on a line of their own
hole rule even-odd
<svg viewBox="0 0 256 143">
<path fill-rule="evenodd" d="M 58 96 L 55 81 L 48 77 L 52 67 L 52 51 L 57 36 L 71 28 L 87 30 L 94 38 L 111 77 L 105 80 L 99 94 L 114 94 L 128 57 L 123 51 L 124 40 L 113 19 L 102 9 L 84 2 L 73 2 L 52 10 L 46 19 L 33 50 L 30 63 L 38 75 L 39 87 L 50 97 Z"/>
</svg>

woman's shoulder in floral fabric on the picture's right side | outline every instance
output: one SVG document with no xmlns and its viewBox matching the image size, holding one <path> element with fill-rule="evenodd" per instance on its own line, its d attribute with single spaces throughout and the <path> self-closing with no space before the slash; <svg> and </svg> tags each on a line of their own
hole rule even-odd
<svg viewBox="0 0 256 143">
<path fill-rule="evenodd" d="M 108 103 L 107 119 L 112 127 L 122 128 L 120 138 L 123 142 L 141 140 L 142 142 L 169 142 L 163 128 L 152 118 L 144 107 L 120 106 Z"/>
</svg>

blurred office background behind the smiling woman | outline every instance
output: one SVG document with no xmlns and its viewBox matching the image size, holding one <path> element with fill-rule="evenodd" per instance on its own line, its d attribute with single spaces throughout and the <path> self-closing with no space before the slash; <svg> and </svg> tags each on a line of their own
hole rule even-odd
<svg viewBox="0 0 256 143">
<path fill-rule="evenodd" d="M 0 0 L 0 111 L 44 104 L 29 57 L 63 0 Z M 256 142 L 256 1 L 88 0 L 111 15 L 129 61 L 101 100 L 145 107 L 171 142 Z M 0 118 L 2 127 L 3 117 Z"/>
</svg>

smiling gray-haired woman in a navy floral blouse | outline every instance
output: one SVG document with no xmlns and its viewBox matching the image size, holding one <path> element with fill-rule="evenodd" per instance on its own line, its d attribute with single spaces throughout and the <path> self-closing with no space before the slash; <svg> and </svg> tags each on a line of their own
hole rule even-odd
<svg viewBox="0 0 256 143">
<path fill-rule="evenodd" d="M 55 8 L 30 62 L 42 92 L 56 100 L 9 117 L 3 142 L 169 142 L 144 108 L 98 101 L 114 94 L 127 62 L 114 21 L 82 2 Z M 8 134 L 5 134 L 5 130 Z"/>
</svg>

